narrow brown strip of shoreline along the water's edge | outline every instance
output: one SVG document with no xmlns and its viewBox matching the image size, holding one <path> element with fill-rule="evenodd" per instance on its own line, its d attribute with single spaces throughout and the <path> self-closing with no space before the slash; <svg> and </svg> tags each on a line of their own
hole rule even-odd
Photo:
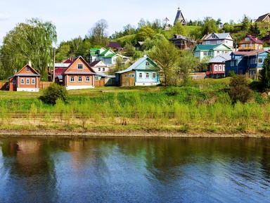
<svg viewBox="0 0 270 203">
<path fill-rule="evenodd" d="M 121 131 L 121 132 L 93 132 L 93 131 L 58 131 L 58 130 L 0 130 L 0 137 L 15 136 L 55 136 L 55 137 L 119 137 L 119 138 L 270 138 L 265 133 L 177 133 L 165 131 Z"/>
</svg>

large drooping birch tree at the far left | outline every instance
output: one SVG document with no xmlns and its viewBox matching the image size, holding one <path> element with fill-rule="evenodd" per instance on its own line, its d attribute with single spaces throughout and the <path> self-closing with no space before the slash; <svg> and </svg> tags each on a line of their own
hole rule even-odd
<svg viewBox="0 0 270 203">
<path fill-rule="evenodd" d="M 32 18 L 18 24 L 6 34 L 0 50 L 7 76 L 31 61 L 41 79 L 47 79 L 46 69 L 53 61 L 53 43 L 56 44 L 56 26 L 52 22 Z"/>
</svg>

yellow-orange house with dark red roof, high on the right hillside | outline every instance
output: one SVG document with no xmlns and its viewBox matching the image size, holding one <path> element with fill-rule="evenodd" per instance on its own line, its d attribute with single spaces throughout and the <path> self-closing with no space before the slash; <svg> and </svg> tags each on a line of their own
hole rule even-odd
<svg viewBox="0 0 270 203">
<path fill-rule="evenodd" d="M 257 37 L 252 35 L 246 35 L 243 39 L 241 39 L 238 43 L 238 51 L 254 51 L 254 50 L 262 50 L 262 41 L 260 41 Z"/>
</svg>

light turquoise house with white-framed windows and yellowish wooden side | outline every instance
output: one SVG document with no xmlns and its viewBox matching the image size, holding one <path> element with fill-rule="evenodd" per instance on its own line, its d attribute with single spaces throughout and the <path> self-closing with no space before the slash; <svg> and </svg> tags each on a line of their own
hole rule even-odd
<svg viewBox="0 0 270 203">
<path fill-rule="evenodd" d="M 126 70 L 115 72 L 119 86 L 151 86 L 160 84 L 161 67 L 146 55 Z"/>
</svg>

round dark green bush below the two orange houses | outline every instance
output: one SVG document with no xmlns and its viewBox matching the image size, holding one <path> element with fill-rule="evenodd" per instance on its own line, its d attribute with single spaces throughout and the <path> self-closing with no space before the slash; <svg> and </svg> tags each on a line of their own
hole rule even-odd
<svg viewBox="0 0 270 203">
<path fill-rule="evenodd" d="M 63 100 L 63 102 L 65 102 L 67 97 L 68 91 L 65 89 L 65 87 L 53 83 L 44 91 L 43 96 L 40 98 L 42 101 L 44 101 L 44 103 L 55 105 L 56 100 Z"/>
</svg>

